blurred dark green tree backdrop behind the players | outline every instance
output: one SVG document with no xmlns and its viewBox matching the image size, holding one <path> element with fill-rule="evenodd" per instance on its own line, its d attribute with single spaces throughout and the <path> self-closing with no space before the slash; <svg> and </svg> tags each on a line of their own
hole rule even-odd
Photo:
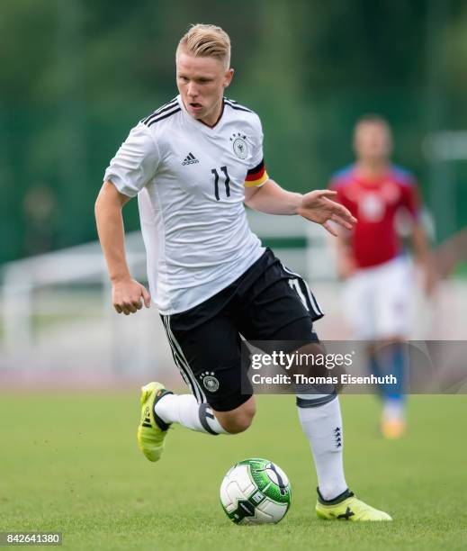
<svg viewBox="0 0 467 551">
<path fill-rule="evenodd" d="M 420 143 L 434 128 L 427 113 L 439 68 L 445 113 L 437 126 L 467 124 L 467 5 L 444 3 L 442 21 L 434 4 L 4 0 L 0 262 L 23 254 L 22 203 L 33 182 L 48 183 L 61 213 L 50 221 L 53 247 L 95 238 L 103 170 L 130 127 L 176 94 L 175 47 L 190 23 L 229 32 L 236 68 L 229 95 L 261 115 L 268 167 L 283 185 L 326 185 L 351 160 L 352 125 L 368 111 L 391 120 L 396 158 L 422 176 Z M 464 166 L 456 170 L 467 176 Z M 134 203 L 128 229 L 139 223 Z"/>
</svg>

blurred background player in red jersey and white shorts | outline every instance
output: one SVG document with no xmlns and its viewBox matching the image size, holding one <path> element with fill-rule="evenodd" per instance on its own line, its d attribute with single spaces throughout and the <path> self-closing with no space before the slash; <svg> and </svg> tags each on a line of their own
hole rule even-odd
<svg viewBox="0 0 467 551">
<path fill-rule="evenodd" d="M 356 162 L 333 176 L 337 200 L 357 218 L 352 231 L 337 239 L 337 272 L 346 280 L 345 310 L 356 339 L 368 340 L 374 375 L 395 375 L 397 385 L 382 385 L 382 434 L 399 438 L 404 416 L 405 357 L 409 339 L 413 276 L 397 230 L 397 216 L 411 219 L 415 257 L 430 294 L 434 285 L 427 237 L 420 223 L 417 184 L 391 164 L 391 128 L 381 116 L 366 115 L 355 125 Z"/>
</svg>

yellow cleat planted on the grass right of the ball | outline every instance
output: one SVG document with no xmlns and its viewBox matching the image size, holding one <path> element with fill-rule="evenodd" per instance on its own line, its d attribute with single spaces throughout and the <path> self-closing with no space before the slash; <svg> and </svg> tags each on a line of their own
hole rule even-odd
<svg viewBox="0 0 467 551">
<path fill-rule="evenodd" d="M 388 513 L 367 505 L 348 490 L 332 501 L 323 500 L 318 492 L 316 514 L 319 519 L 326 520 L 351 520 L 353 522 L 392 520 Z"/>
</svg>

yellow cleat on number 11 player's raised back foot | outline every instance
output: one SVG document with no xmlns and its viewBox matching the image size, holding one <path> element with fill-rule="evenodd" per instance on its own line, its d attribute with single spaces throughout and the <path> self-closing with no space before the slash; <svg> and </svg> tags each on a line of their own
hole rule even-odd
<svg viewBox="0 0 467 551">
<path fill-rule="evenodd" d="M 154 406 L 166 394 L 172 394 L 160 383 L 141 387 L 141 420 L 138 427 L 138 446 L 149 461 L 158 461 L 164 449 L 169 425 L 157 417 Z"/>
</svg>

